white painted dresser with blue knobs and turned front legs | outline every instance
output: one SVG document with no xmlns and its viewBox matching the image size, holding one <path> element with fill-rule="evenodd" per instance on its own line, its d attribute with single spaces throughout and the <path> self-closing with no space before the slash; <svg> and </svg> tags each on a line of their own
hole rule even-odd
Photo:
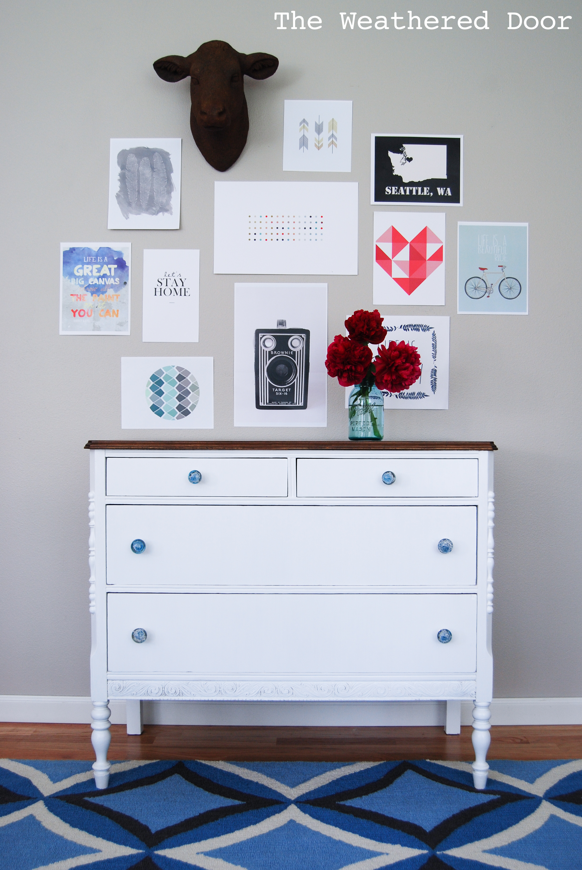
<svg viewBox="0 0 582 870">
<path fill-rule="evenodd" d="M 109 699 L 472 699 L 485 788 L 491 442 L 86 446 L 98 788 Z"/>
</svg>

